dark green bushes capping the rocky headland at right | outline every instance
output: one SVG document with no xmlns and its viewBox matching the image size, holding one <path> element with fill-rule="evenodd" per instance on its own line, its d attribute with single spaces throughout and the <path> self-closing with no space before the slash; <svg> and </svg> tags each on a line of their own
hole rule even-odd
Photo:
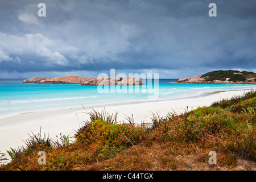
<svg viewBox="0 0 256 182">
<path fill-rule="evenodd" d="M 201 78 L 205 78 L 205 81 L 246 81 L 246 78 L 254 78 L 255 80 L 256 73 L 254 72 L 246 72 L 246 71 L 236 71 L 236 70 L 228 70 L 228 71 L 213 71 L 205 73 L 201 76 Z"/>
</svg>

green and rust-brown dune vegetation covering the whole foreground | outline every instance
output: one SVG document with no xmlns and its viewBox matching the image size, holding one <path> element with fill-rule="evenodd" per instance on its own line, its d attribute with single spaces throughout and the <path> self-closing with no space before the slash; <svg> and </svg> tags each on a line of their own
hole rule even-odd
<svg viewBox="0 0 256 182">
<path fill-rule="evenodd" d="M 32 135 L 2 170 L 251 170 L 256 168 L 256 92 L 136 125 L 92 110 L 75 139 Z M 39 164 L 39 151 L 46 164 Z M 217 164 L 210 165 L 209 152 Z"/>
</svg>

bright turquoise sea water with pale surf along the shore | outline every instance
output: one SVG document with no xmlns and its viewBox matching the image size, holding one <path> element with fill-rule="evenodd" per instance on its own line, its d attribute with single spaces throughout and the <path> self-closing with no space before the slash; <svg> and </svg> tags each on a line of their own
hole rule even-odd
<svg viewBox="0 0 256 182">
<path fill-rule="evenodd" d="M 160 79 L 136 86 L 98 86 L 22 83 L 24 79 L 0 79 L 0 118 L 37 110 L 105 105 L 113 102 L 168 100 L 199 96 L 220 90 L 256 89 L 256 85 L 176 84 Z M 146 81 L 144 81 L 146 82 Z M 105 93 L 102 93 L 104 90 Z M 107 90 L 109 89 L 109 90 Z M 108 92 L 107 92 L 108 91 Z"/>
</svg>

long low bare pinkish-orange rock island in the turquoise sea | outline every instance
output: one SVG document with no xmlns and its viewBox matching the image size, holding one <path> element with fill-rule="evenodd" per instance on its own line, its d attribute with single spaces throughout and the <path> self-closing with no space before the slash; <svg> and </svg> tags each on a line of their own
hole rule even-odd
<svg viewBox="0 0 256 182">
<path fill-rule="evenodd" d="M 97 78 L 82 76 L 64 76 L 64 77 L 33 77 L 23 82 L 34 82 L 36 84 L 81 84 L 81 85 L 144 85 L 141 78 L 137 77 L 114 77 Z"/>
</svg>

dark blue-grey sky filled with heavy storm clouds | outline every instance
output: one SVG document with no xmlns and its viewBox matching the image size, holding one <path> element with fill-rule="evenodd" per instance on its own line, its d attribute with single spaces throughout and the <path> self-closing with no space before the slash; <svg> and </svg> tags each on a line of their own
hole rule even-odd
<svg viewBox="0 0 256 182">
<path fill-rule="evenodd" d="M 111 68 L 160 78 L 256 72 L 256 1 L 0 1 L 0 78 L 97 77 Z"/>
</svg>

